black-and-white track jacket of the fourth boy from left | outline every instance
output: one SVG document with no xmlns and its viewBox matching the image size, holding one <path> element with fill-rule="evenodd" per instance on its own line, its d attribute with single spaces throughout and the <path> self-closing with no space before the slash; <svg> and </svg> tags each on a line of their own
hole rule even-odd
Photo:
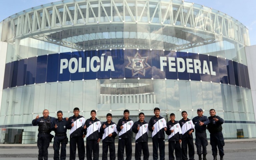
<svg viewBox="0 0 256 160">
<path fill-rule="evenodd" d="M 121 129 L 121 126 L 124 126 L 123 129 Z M 133 121 L 128 118 L 127 120 L 123 117 L 122 119 L 119 119 L 116 129 L 119 132 L 118 137 L 119 138 L 132 138 L 132 125 Z"/>
</svg>

